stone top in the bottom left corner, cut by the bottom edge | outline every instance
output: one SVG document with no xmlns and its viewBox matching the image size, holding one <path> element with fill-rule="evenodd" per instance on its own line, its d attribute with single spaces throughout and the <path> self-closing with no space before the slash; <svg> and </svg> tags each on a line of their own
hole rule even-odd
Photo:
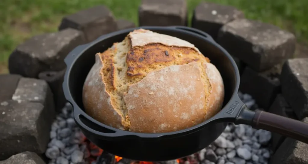
<svg viewBox="0 0 308 164">
<path fill-rule="evenodd" d="M 10 158 L 0 161 L 0 164 L 45 164 L 38 154 L 30 151 L 12 155 Z"/>
</svg>

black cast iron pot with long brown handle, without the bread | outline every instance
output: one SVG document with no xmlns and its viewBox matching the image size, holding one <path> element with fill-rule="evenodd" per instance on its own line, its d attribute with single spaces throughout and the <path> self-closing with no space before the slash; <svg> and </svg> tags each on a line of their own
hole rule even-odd
<svg viewBox="0 0 308 164">
<path fill-rule="evenodd" d="M 188 129 L 160 134 L 134 133 L 112 128 L 84 112 L 82 88 L 95 62 L 95 54 L 121 42 L 135 29 L 148 29 L 175 36 L 194 44 L 220 71 L 225 85 L 224 107 L 215 116 Z M 230 43 L 232 44 L 232 43 Z M 189 27 L 144 26 L 103 35 L 72 50 L 65 58 L 67 71 L 63 90 L 74 108 L 74 118 L 86 137 L 111 154 L 138 161 L 166 161 L 193 154 L 211 144 L 223 132 L 227 122 L 251 125 L 308 143 L 308 124 L 265 111 L 251 111 L 238 97 L 240 75 L 230 54 L 208 34 Z"/>
</svg>

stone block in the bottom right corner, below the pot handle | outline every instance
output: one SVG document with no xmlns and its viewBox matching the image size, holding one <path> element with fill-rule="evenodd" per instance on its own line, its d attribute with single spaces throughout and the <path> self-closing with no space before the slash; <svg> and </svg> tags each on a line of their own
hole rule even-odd
<svg viewBox="0 0 308 164">
<path fill-rule="evenodd" d="M 303 122 L 308 123 L 308 118 Z M 271 157 L 271 164 L 307 164 L 308 145 L 292 138 L 286 138 Z"/>
</svg>

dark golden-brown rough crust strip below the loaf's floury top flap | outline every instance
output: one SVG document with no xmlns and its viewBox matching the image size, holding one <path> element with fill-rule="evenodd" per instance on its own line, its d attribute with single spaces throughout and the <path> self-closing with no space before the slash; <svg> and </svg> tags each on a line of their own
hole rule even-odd
<svg viewBox="0 0 308 164">
<path fill-rule="evenodd" d="M 127 55 L 128 76 L 142 76 L 148 73 L 148 68 L 156 70 L 162 66 L 182 65 L 209 58 L 198 54 L 196 50 L 187 47 L 170 47 L 160 43 L 143 47 L 131 48 Z"/>
</svg>

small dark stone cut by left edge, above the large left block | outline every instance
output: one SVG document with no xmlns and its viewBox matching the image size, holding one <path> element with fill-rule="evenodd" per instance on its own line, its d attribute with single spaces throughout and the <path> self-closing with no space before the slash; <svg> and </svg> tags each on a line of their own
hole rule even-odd
<svg viewBox="0 0 308 164">
<path fill-rule="evenodd" d="M 12 98 L 21 77 L 18 74 L 0 74 L 0 103 Z"/>
</svg>

